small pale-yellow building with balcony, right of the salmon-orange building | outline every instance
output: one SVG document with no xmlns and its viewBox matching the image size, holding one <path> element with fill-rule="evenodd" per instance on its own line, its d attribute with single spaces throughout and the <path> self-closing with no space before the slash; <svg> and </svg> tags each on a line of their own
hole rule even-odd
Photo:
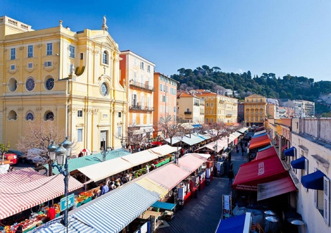
<svg viewBox="0 0 331 233">
<path fill-rule="evenodd" d="M 182 92 L 177 94 L 177 121 L 191 122 L 194 124 L 205 121 L 205 100 Z"/>
</svg>

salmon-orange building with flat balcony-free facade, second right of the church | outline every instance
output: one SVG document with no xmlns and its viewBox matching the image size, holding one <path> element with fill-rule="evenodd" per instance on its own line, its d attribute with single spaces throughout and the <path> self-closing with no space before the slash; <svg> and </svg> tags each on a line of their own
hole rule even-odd
<svg viewBox="0 0 331 233">
<path fill-rule="evenodd" d="M 158 134 L 158 122 L 169 117 L 176 121 L 177 81 L 159 72 L 154 73 L 154 137 Z"/>
</svg>

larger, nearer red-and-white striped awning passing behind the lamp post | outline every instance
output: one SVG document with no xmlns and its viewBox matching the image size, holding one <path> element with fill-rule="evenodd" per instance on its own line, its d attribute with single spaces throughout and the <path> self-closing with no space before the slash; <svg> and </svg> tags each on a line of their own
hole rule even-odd
<svg viewBox="0 0 331 233">
<path fill-rule="evenodd" d="M 19 178 L 17 174 L 14 175 L 16 177 L 12 178 L 13 180 Z M 26 175 L 21 176 L 21 178 L 26 178 Z M 63 179 L 63 175 L 55 175 L 23 184 L 22 182 L 18 182 L 7 187 L 2 187 L 0 189 L 0 219 L 63 195 Z M 83 185 L 80 182 L 73 177 L 69 177 L 68 192 L 81 187 Z"/>
</svg>

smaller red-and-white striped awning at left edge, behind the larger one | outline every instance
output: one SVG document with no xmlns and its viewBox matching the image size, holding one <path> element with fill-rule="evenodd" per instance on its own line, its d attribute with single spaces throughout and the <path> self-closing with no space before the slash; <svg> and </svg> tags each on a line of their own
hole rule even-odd
<svg viewBox="0 0 331 233">
<path fill-rule="evenodd" d="M 44 177 L 45 176 L 41 175 L 31 167 L 7 172 L 0 175 L 0 190 L 11 186 L 18 186 L 21 184 L 29 183 Z"/>
</svg>

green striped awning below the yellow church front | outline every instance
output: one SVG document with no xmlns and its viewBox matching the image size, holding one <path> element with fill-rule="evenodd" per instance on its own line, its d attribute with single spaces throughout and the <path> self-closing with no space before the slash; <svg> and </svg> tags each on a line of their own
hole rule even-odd
<svg viewBox="0 0 331 233">
<path fill-rule="evenodd" d="M 122 157 L 124 155 L 131 154 L 130 152 L 126 151 L 123 148 L 116 149 L 116 150 L 111 150 L 107 153 L 106 155 L 106 160 Z M 91 154 L 79 158 L 72 158 L 68 160 L 68 171 L 74 171 L 77 170 L 78 168 L 86 167 L 92 164 L 96 163 L 101 163 L 102 162 L 102 154 L 97 153 L 97 154 Z M 56 163 L 56 162 L 55 162 Z M 48 169 L 48 164 L 44 164 L 44 167 Z M 58 169 L 53 169 L 54 174 L 59 174 Z"/>
</svg>

